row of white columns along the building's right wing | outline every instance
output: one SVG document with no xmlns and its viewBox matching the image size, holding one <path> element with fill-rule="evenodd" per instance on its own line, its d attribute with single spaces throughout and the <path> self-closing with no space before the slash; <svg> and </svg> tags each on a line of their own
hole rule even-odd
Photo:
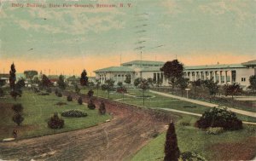
<svg viewBox="0 0 256 161">
<path fill-rule="evenodd" d="M 185 77 L 189 78 L 189 81 L 195 81 L 198 79 L 207 80 L 213 78 L 214 83 L 232 83 L 232 72 L 228 71 L 191 71 L 184 72 Z M 222 79 L 224 77 L 224 80 Z"/>
</svg>

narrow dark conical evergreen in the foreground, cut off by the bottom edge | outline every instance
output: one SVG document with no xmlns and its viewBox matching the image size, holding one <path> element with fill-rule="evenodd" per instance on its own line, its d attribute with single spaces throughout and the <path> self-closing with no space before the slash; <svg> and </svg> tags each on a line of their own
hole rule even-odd
<svg viewBox="0 0 256 161">
<path fill-rule="evenodd" d="M 169 124 L 166 132 L 165 154 L 165 161 L 177 161 L 180 155 L 179 148 L 177 147 L 177 135 L 172 122 Z"/>
</svg>

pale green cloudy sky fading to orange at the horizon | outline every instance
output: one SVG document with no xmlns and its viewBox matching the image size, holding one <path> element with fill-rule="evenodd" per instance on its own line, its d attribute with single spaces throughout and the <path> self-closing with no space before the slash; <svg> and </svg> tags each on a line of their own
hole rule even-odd
<svg viewBox="0 0 256 161">
<path fill-rule="evenodd" d="M 255 0 L 0 2 L 0 73 L 15 62 L 17 72 L 79 75 L 86 69 L 94 76 L 96 69 L 139 60 L 141 52 L 143 60 L 177 58 L 185 66 L 256 59 Z"/>
</svg>

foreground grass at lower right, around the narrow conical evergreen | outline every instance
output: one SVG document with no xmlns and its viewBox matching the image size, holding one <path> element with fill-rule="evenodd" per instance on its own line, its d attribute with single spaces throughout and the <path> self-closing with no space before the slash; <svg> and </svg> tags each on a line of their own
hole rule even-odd
<svg viewBox="0 0 256 161">
<path fill-rule="evenodd" d="M 178 147 L 181 152 L 196 152 L 207 160 L 220 160 L 227 155 L 224 152 L 214 152 L 213 146 L 218 144 L 225 145 L 226 143 L 243 143 L 247 141 L 249 137 L 256 137 L 253 132 L 248 132 L 245 128 L 238 131 L 225 131 L 219 135 L 207 135 L 207 132 L 194 127 L 195 121 L 198 118 L 184 116 L 176 123 L 176 134 Z M 188 123 L 189 126 L 183 126 L 182 123 Z M 255 138 L 254 138 L 255 139 Z M 132 161 L 157 161 L 164 158 L 164 145 L 166 141 L 166 133 L 162 133 L 154 140 L 150 141 L 145 147 L 143 147 L 137 154 L 131 159 Z M 251 144 L 254 144 L 253 142 Z M 252 145 L 251 145 L 252 146 Z M 255 147 L 255 146 L 254 146 Z M 235 147 L 234 147 L 235 148 Z M 241 148 L 241 147 L 240 147 Z M 250 156 L 255 154 L 255 150 L 252 150 Z M 236 148 L 230 149 L 230 153 L 236 152 Z M 236 154 L 234 154 L 236 155 Z"/>
</svg>

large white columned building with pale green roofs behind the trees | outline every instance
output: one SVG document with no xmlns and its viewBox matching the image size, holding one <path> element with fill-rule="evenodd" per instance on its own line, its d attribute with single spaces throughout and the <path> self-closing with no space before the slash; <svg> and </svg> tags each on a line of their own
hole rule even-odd
<svg viewBox="0 0 256 161">
<path fill-rule="evenodd" d="M 160 68 L 165 64 L 162 61 L 133 60 L 121 64 L 96 70 L 96 78 L 102 83 L 111 78 L 118 82 L 124 82 L 127 75 L 131 75 L 131 82 L 136 78 L 153 78 L 154 81 L 168 85 Z M 218 64 L 206 66 L 184 66 L 184 76 L 189 81 L 197 79 L 206 80 L 212 78 L 218 84 L 240 83 L 241 86 L 249 85 L 249 77 L 256 74 L 256 60 L 241 64 Z"/>
</svg>

